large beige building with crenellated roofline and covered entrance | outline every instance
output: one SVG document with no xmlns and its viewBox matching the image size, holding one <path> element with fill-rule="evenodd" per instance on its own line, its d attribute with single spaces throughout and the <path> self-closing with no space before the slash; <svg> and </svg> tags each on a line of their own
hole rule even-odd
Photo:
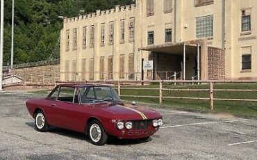
<svg viewBox="0 0 257 160">
<path fill-rule="evenodd" d="M 65 18 L 60 80 L 257 79 L 256 7 L 256 0 L 136 0 Z"/>
</svg>

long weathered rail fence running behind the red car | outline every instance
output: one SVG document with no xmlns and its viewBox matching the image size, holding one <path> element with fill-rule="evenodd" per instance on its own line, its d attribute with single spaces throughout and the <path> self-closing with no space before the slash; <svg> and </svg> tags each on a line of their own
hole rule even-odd
<svg viewBox="0 0 257 160">
<path fill-rule="evenodd" d="M 214 83 L 257 83 L 257 81 L 56 81 L 56 83 L 22 83 L 13 85 L 29 85 L 29 86 L 56 86 L 58 83 L 95 83 L 95 84 L 108 84 L 113 85 L 117 88 L 117 93 L 120 97 L 142 97 L 142 98 L 154 98 L 158 99 L 159 104 L 163 103 L 163 99 L 194 99 L 194 100 L 208 100 L 210 102 L 210 110 L 213 110 L 214 101 L 235 101 L 235 102 L 257 102 L 256 99 L 238 99 L 238 98 L 215 98 L 213 97 L 215 92 L 251 92 L 257 93 L 256 89 L 215 89 L 213 88 Z M 149 88 L 149 84 L 156 84 L 156 88 Z M 198 84 L 208 84 L 208 88 L 205 89 L 184 89 L 184 88 L 163 88 L 164 84 L 169 84 L 172 86 L 186 86 L 186 85 L 198 85 Z M 138 86 L 144 86 L 138 87 Z M 132 87 L 131 87 L 132 86 Z M 122 90 L 158 90 L 158 96 L 156 95 L 122 95 Z M 183 96 L 163 96 L 163 91 L 183 91 L 183 92 L 208 92 L 208 97 L 183 97 Z"/>
</svg>

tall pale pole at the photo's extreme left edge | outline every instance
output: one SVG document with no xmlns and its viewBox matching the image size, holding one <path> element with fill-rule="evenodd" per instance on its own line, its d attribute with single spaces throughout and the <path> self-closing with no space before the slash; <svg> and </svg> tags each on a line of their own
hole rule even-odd
<svg viewBox="0 0 257 160">
<path fill-rule="evenodd" d="M 3 10 L 4 0 L 1 0 L 1 26 L 0 26 L 0 90 L 3 90 Z"/>
</svg>

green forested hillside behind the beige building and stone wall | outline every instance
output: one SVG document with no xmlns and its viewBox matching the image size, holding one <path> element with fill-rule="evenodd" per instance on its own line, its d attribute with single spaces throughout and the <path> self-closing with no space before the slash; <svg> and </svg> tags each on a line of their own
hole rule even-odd
<svg viewBox="0 0 257 160">
<path fill-rule="evenodd" d="M 84 10 L 105 10 L 133 0 L 15 0 L 14 64 L 58 58 L 58 37 L 63 27 L 58 16 L 74 17 Z M 5 1 L 3 65 L 10 64 L 12 0 Z M 59 53 L 59 52 L 58 52 Z"/>
</svg>

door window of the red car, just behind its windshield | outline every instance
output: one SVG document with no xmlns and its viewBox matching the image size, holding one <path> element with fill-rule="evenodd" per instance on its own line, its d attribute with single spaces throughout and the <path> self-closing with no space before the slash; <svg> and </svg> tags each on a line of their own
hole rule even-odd
<svg viewBox="0 0 257 160">
<path fill-rule="evenodd" d="M 63 102 L 75 102 L 76 96 L 74 96 L 75 88 L 72 87 L 60 87 L 60 92 L 57 100 Z M 77 98 L 78 99 L 78 98 Z M 77 100 L 78 101 L 78 100 Z"/>
</svg>

